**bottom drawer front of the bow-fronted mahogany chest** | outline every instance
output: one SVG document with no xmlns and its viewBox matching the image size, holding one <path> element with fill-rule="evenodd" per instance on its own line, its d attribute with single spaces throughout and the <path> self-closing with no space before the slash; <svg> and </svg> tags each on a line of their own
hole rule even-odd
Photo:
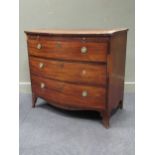
<svg viewBox="0 0 155 155">
<path fill-rule="evenodd" d="M 32 90 L 38 96 L 60 105 L 81 108 L 105 108 L 105 89 L 58 82 L 31 76 Z"/>
</svg>

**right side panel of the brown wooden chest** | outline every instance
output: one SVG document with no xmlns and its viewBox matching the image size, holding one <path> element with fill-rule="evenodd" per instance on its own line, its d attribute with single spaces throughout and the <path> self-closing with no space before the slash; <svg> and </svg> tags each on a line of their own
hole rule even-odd
<svg viewBox="0 0 155 155">
<path fill-rule="evenodd" d="M 116 108 L 124 95 L 127 32 L 111 38 L 108 55 L 108 109 Z"/>
</svg>

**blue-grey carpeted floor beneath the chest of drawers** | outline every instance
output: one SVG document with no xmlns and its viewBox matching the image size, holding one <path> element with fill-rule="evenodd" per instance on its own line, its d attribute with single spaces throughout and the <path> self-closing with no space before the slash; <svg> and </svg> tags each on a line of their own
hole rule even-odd
<svg viewBox="0 0 155 155">
<path fill-rule="evenodd" d="M 112 116 L 107 130 L 96 112 L 65 111 L 20 94 L 20 155 L 134 155 L 135 96 Z"/>
</svg>

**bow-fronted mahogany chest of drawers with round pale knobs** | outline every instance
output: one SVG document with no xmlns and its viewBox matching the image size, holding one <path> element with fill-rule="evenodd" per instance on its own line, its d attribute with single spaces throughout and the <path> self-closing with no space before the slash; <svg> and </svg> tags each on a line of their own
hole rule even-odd
<svg viewBox="0 0 155 155">
<path fill-rule="evenodd" d="M 25 31 L 32 87 L 38 97 L 69 110 L 95 110 L 109 127 L 123 107 L 127 29 Z"/>
</svg>

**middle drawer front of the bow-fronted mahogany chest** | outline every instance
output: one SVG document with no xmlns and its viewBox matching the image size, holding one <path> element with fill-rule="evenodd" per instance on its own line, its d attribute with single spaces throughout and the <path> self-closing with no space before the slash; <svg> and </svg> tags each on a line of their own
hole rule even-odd
<svg viewBox="0 0 155 155">
<path fill-rule="evenodd" d="M 106 85 L 106 65 L 29 59 L 31 74 L 65 82 Z"/>
</svg>

